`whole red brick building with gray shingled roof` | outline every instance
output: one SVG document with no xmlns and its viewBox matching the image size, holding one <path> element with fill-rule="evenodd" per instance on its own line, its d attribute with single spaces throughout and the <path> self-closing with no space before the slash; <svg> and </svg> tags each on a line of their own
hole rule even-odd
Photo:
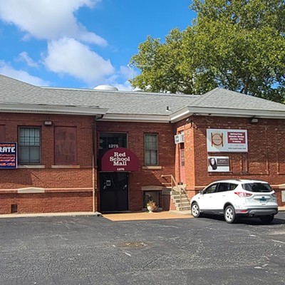
<svg viewBox="0 0 285 285">
<path fill-rule="evenodd" d="M 190 198 L 226 178 L 266 180 L 284 206 L 284 142 L 285 105 L 229 90 L 43 88 L 0 76 L 0 214 L 141 211 L 148 199 L 175 209 L 171 188 Z"/>
</svg>

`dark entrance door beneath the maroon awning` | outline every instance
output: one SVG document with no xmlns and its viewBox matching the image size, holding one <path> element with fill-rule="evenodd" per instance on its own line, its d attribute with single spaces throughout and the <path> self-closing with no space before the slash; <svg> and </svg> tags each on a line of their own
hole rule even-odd
<svg viewBox="0 0 285 285">
<path fill-rule="evenodd" d="M 128 172 L 100 172 L 100 211 L 128 210 Z"/>
</svg>

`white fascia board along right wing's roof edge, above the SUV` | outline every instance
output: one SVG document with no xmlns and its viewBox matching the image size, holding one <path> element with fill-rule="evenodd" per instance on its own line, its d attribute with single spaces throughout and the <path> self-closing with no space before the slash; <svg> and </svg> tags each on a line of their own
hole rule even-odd
<svg viewBox="0 0 285 285">
<path fill-rule="evenodd" d="M 190 115 L 211 115 L 220 117 L 242 117 L 242 118 L 267 118 L 267 119 L 285 119 L 285 111 L 278 110 L 247 110 L 247 109 L 229 109 L 229 108 L 201 108 L 187 107 L 170 115 L 171 123 L 183 120 Z"/>
</svg>

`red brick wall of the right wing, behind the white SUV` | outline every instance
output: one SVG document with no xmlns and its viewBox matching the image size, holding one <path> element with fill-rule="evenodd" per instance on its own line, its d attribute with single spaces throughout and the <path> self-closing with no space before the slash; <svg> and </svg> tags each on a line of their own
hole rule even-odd
<svg viewBox="0 0 285 285">
<path fill-rule="evenodd" d="M 224 118 L 192 116 L 190 128 L 185 125 L 185 160 L 194 164 L 188 165 L 187 191 L 189 196 L 195 195 L 214 180 L 221 179 L 256 179 L 268 181 L 271 185 L 285 183 L 285 124 L 284 120 L 259 119 L 251 124 L 249 118 Z M 183 122 L 176 125 L 179 130 Z M 248 152 L 207 152 L 207 128 L 247 130 Z M 192 145 L 192 134 L 194 141 Z M 193 151 L 194 150 L 194 155 Z M 207 157 L 229 157 L 230 172 L 208 172 Z M 193 180 L 193 172 L 195 179 Z M 194 184 L 192 182 L 195 182 Z M 274 187 L 276 188 L 276 187 Z M 281 193 L 277 192 L 281 205 Z M 283 202 L 282 205 L 285 203 Z"/>
</svg>

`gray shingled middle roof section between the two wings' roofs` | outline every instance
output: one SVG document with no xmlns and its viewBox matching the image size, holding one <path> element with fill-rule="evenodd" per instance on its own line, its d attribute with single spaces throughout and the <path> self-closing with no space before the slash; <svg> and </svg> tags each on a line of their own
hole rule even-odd
<svg viewBox="0 0 285 285">
<path fill-rule="evenodd" d="M 108 114 L 138 115 L 169 115 L 199 98 L 199 95 L 58 88 L 43 88 L 43 93 L 69 98 L 69 102 L 76 98 L 84 106 L 99 105 L 100 108 L 108 108 Z M 170 112 L 166 111 L 167 106 Z"/>
</svg>

